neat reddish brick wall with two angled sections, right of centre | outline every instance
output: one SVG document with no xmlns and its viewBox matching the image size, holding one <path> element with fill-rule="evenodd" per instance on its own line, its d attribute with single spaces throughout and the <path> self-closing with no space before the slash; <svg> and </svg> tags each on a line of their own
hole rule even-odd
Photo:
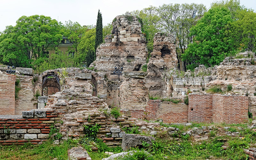
<svg viewBox="0 0 256 160">
<path fill-rule="evenodd" d="M 241 123 L 248 119 L 248 97 L 189 94 L 188 121 Z"/>
</svg>

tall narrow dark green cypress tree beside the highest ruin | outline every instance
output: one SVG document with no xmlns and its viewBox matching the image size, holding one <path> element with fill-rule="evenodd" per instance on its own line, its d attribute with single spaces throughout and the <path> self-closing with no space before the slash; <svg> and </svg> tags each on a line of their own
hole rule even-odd
<svg viewBox="0 0 256 160">
<path fill-rule="evenodd" d="M 98 12 L 97 23 L 96 23 L 96 37 L 95 37 L 95 52 L 97 47 L 102 44 L 102 16 L 100 10 Z"/>
</svg>

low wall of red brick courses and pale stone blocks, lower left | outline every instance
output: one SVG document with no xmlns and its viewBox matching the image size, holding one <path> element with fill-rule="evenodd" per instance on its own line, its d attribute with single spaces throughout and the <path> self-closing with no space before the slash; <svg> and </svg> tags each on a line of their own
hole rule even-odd
<svg viewBox="0 0 256 160">
<path fill-rule="evenodd" d="M 53 110 L 24 111 L 22 114 L 0 115 L 0 145 L 22 145 L 26 142 L 40 144 L 49 137 L 49 126 L 54 120 L 60 119 Z"/>
</svg>

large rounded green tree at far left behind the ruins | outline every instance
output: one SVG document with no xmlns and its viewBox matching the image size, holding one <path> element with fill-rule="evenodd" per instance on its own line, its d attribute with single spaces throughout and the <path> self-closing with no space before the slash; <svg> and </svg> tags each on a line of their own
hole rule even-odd
<svg viewBox="0 0 256 160">
<path fill-rule="evenodd" d="M 7 26 L 1 34 L 1 62 L 16 67 L 34 67 L 43 62 L 46 51 L 59 44 L 61 27 L 57 20 L 43 15 L 20 17 L 15 26 Z"/>
</svg>

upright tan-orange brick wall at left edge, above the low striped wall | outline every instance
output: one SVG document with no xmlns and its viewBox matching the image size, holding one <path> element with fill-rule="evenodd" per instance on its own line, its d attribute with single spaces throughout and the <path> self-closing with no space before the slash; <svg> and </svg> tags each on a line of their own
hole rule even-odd
<svg viewBox="0 0 256 160">
<path fill-rule="evenodd" d="M 15 114 L 16 76 L 0 73 L 0 114 Z"/>
</svg>

